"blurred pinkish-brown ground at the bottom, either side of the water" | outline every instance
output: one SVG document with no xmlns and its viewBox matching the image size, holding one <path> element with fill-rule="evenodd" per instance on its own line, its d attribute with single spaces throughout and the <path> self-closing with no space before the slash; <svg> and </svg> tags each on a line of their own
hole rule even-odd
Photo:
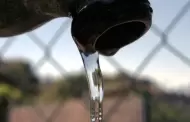
<svg viewBox="0 0 190 122">
<path fill-rule="evenodd" d="M 129 96 L 123 102 L 119 100 L 122 103 L 117 104 L 116 108 L 111 110 L 117 100 L 118 97 L 105 99 L 104 115 L 107 122 L 142 122 L 140 99 Z M 53 115 L 54 118 L 49 119 L 48 122 L 90 122 L 89 111 L 84 106 L 85 103 L 82 100 L 72 99 L 63 102 L 58 107 L 59 110 Z M 12 108 L 10 122 L 47 122 L 47 117 L 51 116 L 55 107 L 56 104 Z M 44 111 L 46 117 L 39 111 L 39 108 Z"/>
</svg>

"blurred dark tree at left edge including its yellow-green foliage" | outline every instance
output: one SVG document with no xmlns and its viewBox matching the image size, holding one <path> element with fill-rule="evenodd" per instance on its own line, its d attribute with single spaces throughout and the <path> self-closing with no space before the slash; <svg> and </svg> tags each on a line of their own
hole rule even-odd
<svg viewBox="0 0 190 122">
<path fill-rule="evenodd" d="M 25 61 L 0 62 L 0 118 L 7 122 L 9 100 L 20 100 L 38 93 L 38 78 Z"/>
</svg>

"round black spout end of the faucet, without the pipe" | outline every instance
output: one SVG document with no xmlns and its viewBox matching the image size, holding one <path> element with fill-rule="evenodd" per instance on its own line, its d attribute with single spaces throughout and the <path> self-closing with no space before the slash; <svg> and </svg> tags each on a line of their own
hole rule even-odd
<svg viewBox="0 0 190 122">
<path fill-rule="evenodd" d="M 71 33 L 81 51 L 113 56 L 151 27 L 148 0 L 75 0 Z M 79 2 L 80 1 L 80 2 Z"/>
</svg>

